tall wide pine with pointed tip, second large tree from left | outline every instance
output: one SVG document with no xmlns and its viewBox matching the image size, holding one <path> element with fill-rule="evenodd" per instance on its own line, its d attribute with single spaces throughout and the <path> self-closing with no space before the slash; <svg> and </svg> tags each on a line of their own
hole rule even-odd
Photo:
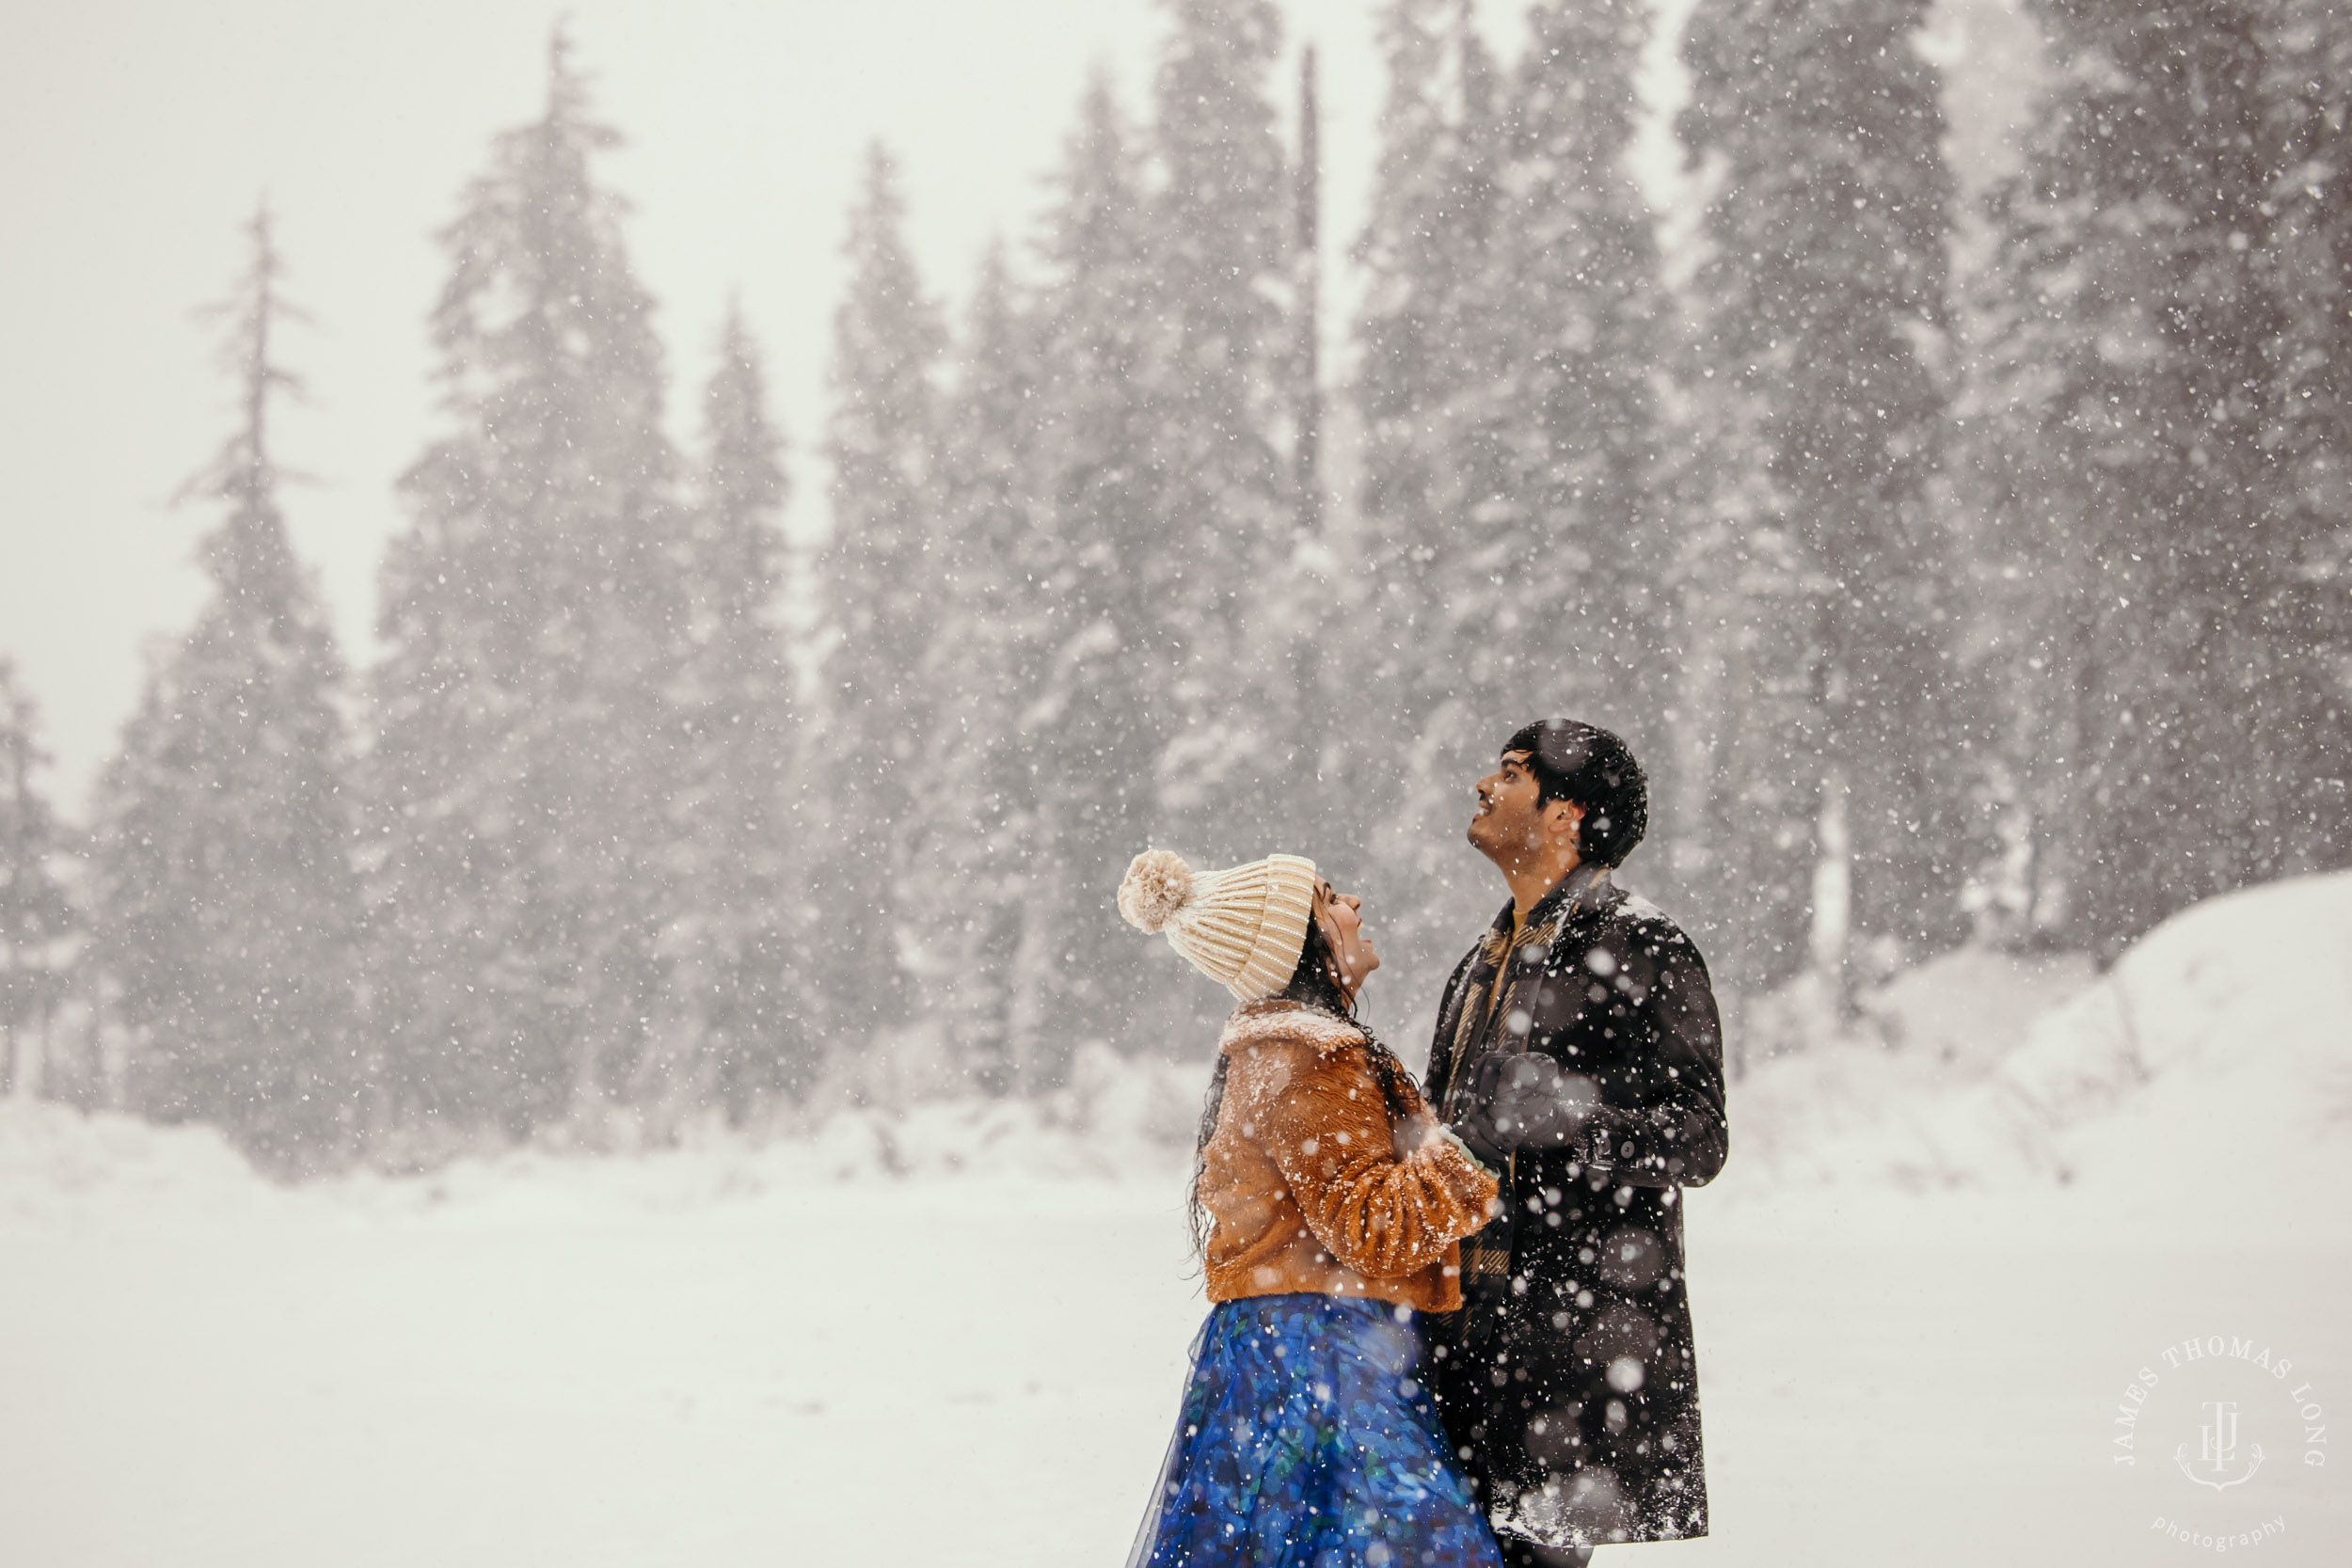
<svg viewBox="0 0 2352 1568">
<path fill-rule="evenodd" d="M 546 113 L 442 230 L 445 433 L 383 567 L 369 804 L 381 1034 L 402 1121 L 602 1138 L 691 1032 L 663 933 L 689 621 L 654 303 L 557 33 Z M 661 1041 L 661 1044 L 656 1044 Z"/>
</svg>

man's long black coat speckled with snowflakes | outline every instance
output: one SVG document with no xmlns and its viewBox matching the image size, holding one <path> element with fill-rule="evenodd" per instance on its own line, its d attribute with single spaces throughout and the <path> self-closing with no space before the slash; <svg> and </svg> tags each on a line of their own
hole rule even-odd
<svg viewBox="0 0 2352 1568">
<path fill-rule="evenodd" d="M 1569 1147 L 1510 1157 L 1510 1213 L 1465 1246 L 1472 1302 L 1430 1319 L 1446 1429 L 1505 1535 L 1705 1535 L 1679 1192 L 1712 1180 L 1729 1147 L 1708 966 L 1653 905 L 1581 870 L 1517 943 L 1503 905 L 1454 971 L 1430 1103 L 1458 1119 L 1477 1063 L 1498 1051 L 1550 1053 L 1590 1079 L 1599 1110 Z"/>
</svg>

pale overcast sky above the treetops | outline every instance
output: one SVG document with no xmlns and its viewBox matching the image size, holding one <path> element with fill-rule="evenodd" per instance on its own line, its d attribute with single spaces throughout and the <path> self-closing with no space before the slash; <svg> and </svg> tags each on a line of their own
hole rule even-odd
<svg viewBox="0 0 2352 1568">
<path fill-rule="evenodd" d="M 1663 0 L 1682 14 L 1689 0 Z M 2006 0 L 1959 0 L 2006 5 Z M 1519 7 L 1484 7 L 1505 47 Z M 1362 223 L 1383 73 L 1371 0 L 1289 0 L 1324 99 L 1324 233 Z M 433 233 L 489 136 L 541 108 L 548 0 L 9 0 L 0 52 L 0 656 L 40 701 L 78 811 L 132 710 L 143 649 L 202 599 L 202 508 L 167 498 L 226 435 L 228 388 L 195 306 L 235 275 L 268 193 L 292 292 L 315 329 L 287 360 L 313 390 L 280 416 L 280 458 L 315 477 L 294 545 L 355 665 L 374 656 L 374 574 L 402 527 L 393 477 L 430 430 Z M 774 411 L 807 458 L 840 294 L 858 150 L 901 158 L 917 256 L 960 296 L 993 233 L 1042 205 L 1087 73 L 1143 113 L 1150 0 L 581 0 L 567 12 L 597 103 L 628 146 L 604 179 L 635 202 L 630 254 L 661 301 L 673 425 L 727 296 L 769 355 Z M 1679 92 L 1665 47 L 1653 96 Z M 1289 80 L 1289 78 L 1284 78 Z M 1663 190 L 1663 127 L 1642 174 Z M 821 517 L 802 461 L 795 524 Z"/>
</svg>

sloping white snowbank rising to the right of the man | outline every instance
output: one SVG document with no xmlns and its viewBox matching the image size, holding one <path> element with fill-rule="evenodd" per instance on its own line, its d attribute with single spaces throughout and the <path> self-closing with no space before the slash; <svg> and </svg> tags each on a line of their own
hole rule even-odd
<svg viewBox="0 0 2352 1568">
<path fill-rule="evenodd" d="M 2042 1199 L 2004 1225 L 2352 1234 L 2333 1201 L 2352 1178 L 2352 872 L 2185 910 L 2023 1030 L 2016 994 L 2067 973 L 1999 964 L 1955 954 L 1889 987 L 1905 994 L 1882 1006 L 1945 1044 L 1839 1039 L 1750 1072 L 1719 1190 L 1780 1213 L 1809 1192 L 1983 1190 Z"/>
</svg>

